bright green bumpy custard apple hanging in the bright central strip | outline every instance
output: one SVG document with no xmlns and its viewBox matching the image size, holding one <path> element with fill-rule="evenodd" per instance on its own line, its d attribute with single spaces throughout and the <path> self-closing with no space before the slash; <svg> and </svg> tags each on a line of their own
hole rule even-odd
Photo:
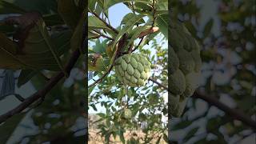
<svg viewBox="0 0 256 144">
<path fill-rule="evenodd" d="M 150 62 L 142 54 L 125 54 L 115 61 L 115 72 L 127 86 L 144 86 L 150 78 Z"/>
</svg>

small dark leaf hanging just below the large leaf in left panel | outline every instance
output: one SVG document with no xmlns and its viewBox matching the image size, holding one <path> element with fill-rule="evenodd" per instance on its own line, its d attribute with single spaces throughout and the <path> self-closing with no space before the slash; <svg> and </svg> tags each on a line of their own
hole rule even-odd
<svg viewBox="0 0 256 144">
<path fill-rule="evenodd" d="M 24 85 L 26 82 L 29 82 L 35 74 L 38 74 L 38 70 L 22 70 L 18 77 L 18 87 Z"/>
</svg>

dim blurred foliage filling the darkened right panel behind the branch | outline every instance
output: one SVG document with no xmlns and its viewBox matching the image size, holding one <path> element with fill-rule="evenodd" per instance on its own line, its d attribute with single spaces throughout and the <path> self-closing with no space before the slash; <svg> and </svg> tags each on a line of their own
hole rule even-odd
<svg viewBox="0 0 256 144">
<path fill-rule="evenodd" d="M 218 16 L 209 18 L 207 15 L 209 19 L 202 19 L 203 6 L 198 6 L 196 1 L 172 1 L 171 5 L 174 15 L 186 24 L 202 45 L 204 82 L 200 92 L 225 99 L 227 105 L 252 116 L 255 114 L 256 74 L 254 2 L 223 0 L 216 3 Z M 202 23 L 203 20 L 207 22 Z M 219 26 L 219 29 L 214 29 L 214 26 Z M 206 109 L 200 110 L 198 103 L 203 105 L 204 102 L 190 99 L 189 103 L 183 117 L 171 122 L 173 142 L 239 143 L 254 134 L 250 127 L 220 110 L 215 113 L 213 106 L 205 103 Z M 206 124 L 202 125 L 202 122 Z M 181 132 L 185 136 L 177 137 L 176 134 Z"/>
</svg>

